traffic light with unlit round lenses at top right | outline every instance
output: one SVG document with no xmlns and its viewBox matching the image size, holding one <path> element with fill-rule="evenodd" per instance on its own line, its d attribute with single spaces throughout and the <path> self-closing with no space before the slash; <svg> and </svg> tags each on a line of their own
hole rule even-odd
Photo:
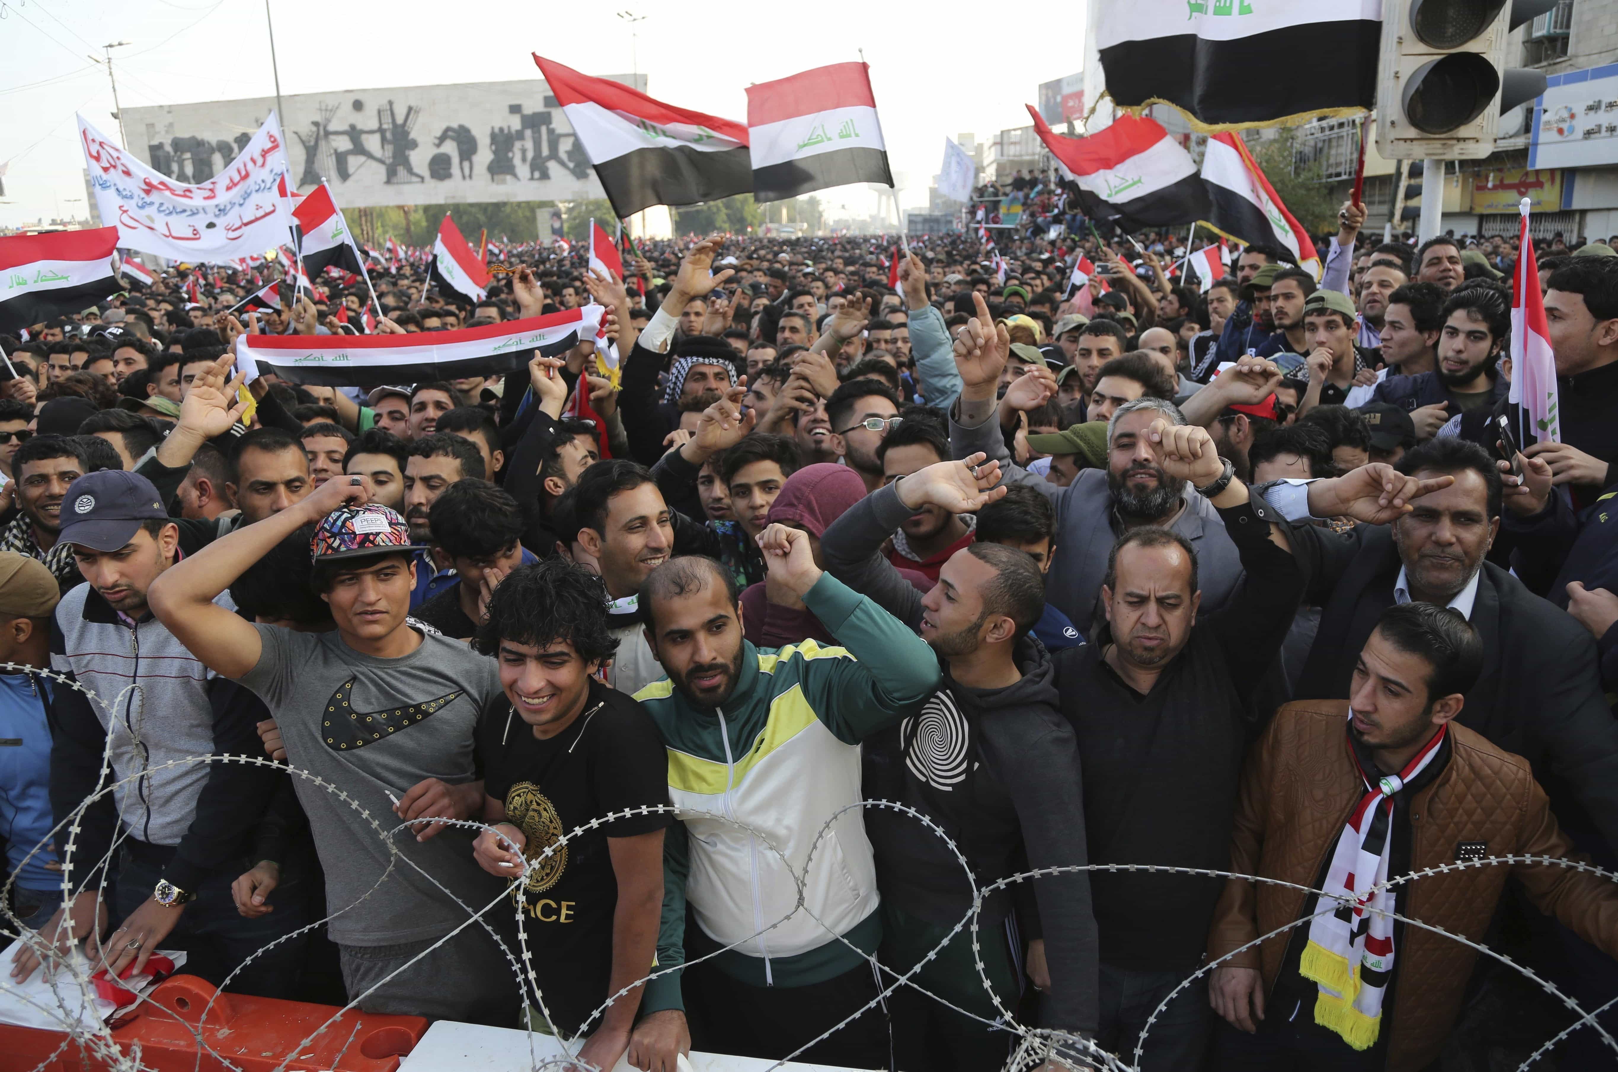
<svg viewBox="0 0 1618 1072">
<path fill-rule="evenodd" d="M 1383 0 L 1377 152 L 1476 160 L 1500 113 L 1545 92 L 1544 71 L 1506 68 L 1513 29 L 1557 0 Z"/>
</svg>

